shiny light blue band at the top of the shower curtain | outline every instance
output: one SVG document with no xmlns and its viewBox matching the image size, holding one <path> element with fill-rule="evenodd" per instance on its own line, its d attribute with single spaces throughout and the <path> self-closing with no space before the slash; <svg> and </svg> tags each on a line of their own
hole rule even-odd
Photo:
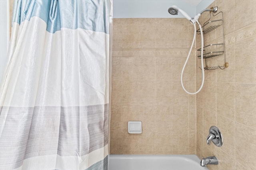
<svg viewBox="0 0 256 170">
<path fill-rule="evenodd" d="M 82 28 L 109 34 L 109 5 L 108 0 L 15 0 L 12 23 L 36 16 L 47 23 L 50 33 Z"/>
</svg>

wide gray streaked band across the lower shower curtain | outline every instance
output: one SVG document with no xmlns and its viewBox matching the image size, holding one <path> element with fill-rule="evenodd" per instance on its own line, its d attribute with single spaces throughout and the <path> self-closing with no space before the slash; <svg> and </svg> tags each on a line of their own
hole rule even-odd
<svg viewBox="0 0 256 170">
<path fill-rule="evenodd" d="M 0 140 L 1 168 L 18 168 L 33 156 L 83 156 L 108 143 L 108 104 L 4 106 L 0 113 L 7 113 Z"/>
</svg>

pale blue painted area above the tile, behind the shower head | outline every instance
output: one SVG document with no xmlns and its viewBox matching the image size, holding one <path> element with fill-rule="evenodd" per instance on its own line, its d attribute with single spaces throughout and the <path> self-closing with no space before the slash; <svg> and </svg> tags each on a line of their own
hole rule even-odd
<svg viewBox="0 0 256 170">
<path fill-rule="evenodd" d="M 168 8 L 178 6 L 193 17 L 214 0 L 113 0 L 113 18 L 184 18 L 170 15 Z"/>
</svg>

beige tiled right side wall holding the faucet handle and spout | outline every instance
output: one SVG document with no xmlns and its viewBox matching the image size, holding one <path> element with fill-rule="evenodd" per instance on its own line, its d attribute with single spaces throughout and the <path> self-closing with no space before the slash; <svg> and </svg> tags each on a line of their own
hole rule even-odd
<svg viewBox="0 0 256 170">
<path fill-rule="evenodd" d="M 224 13 L 225 52 L 229 67 L 206 71 L 204 88 L 196 96 L 196 154 L 199 157 L 217 156 L 220 163 L 209 165 L 210 170 L 255 170 L 256 1 L 216 0 L 210 6 L 218 6 Z M 202 18 L 206 19 L 206 15 Z M 206 34 L 206 44 L 219 41 L 220 31 L 216 29 L 212 34 Z M 197 45 L 199 40 L 197 37 Z M 210 61 L 217 65 L 222 62 L 222 57 Z M 196 63 L 198 68 L 199 60 Z M 202 78 L 198 69 L 196 78 L 198 87 Z M 223 133 L 222 147 L 206 144 L 212 125 Z"/>
</svg>

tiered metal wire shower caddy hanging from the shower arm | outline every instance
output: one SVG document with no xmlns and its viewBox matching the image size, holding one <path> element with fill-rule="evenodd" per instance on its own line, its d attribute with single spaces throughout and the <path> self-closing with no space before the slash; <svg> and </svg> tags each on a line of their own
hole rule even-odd
<svg viewBox="0 0 256 170">
<path fill-rule="evenodd" d="M 212 13 L 212 15 L 211 15 Z M 211 16 L 217 16 L 218 14 L 221 14 L 222 19 L 220 20 L 212 20 L 211 21 Z M 210 18 L 208 19 L 208 21 L 206 21 L 204 23 L 204 25 L 202 26 L 202 34 L 205 36 L 207 33 L 209 33 L 210 31 L 220 27 L 222 25 L 222 40 L 223 43 L 218 43 L 218 44 L 209 44 L 209 45 L 204 45 L 203 51 L 204 51 L 204 56 L 203 59 L 205 59 L 205 67 L 204 70 L 216 70 L 218 68 L 220 69 L 224 69 L 228 67 L 228 63 L 225 62 L 225 47 L 224 47 L 224 26 L 223 26 L 223 12 L 219 12 L 218 14 L 214 15 L 213 12 L 210 12 Z M 200 29 L 196 30 L 197 34 L 201 34 Z M 197 57 L 199 59 L 201 59 L 201 51 L 202 49 L 198 49 L 197 50 Z M 206 59 L 212 58 L 212 57 L 217 57 L 223 55 L 224 58 L 224 64 L 222 66 L 218 65 L 218 66 L 207 66 L 207 61 Z M 200 68 L 200 67 L 199 67 Z M 200 68 L 202 69 L 202 68 Z"/>
</svg>

